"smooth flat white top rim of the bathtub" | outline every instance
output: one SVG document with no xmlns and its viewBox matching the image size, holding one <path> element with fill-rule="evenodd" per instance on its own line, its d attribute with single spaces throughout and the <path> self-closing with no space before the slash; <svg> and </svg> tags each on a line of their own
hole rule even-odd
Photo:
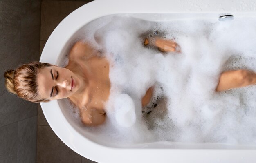
<svg viewBox="0 0 256 163">
<path fill-rule="evenodd" d="M 246 0 L 245 0 L 246 1 Z M 160 3 L 168 3 L 168 1 L 160 0 Z M 207 1 L 211 3 L 210 1 Z M 216 2 L 216 1 L 215 1 Z M 223 1 L 217 1 L 222 2 Z M 224 1 L 227 2 L 227 1 Z M 248 1 L 249 2 L 249 1 Z M 104 10 L 108 4 L 115 4 L 110 6 L 108 11 Z M 118 0 L 96 0 L 85 4 L 84 6 L 80 7 L 73 11 L 69 16 L 67 16 L 52 32 L 51 36 L 47 40 L 45 44 L 45 48 L 43 49 L 40 62 L 47 62 L 51 64 L 56 64 L 58 57 L 63 51 L 63 48 L 67 45 L 68 40 L 72 37 L 74 32 L 81 29 L 83 25 L 92 20 L 106 16 L 111 14 L 120 14 L 120 13 L 141 13 L 140 7 L 144 7 L 144 11 L 142 13 L 212 13 L 212 14 L 219 14 L 219 13 L 243 13 L 242 9 L 237 11 L 232 11 L 230 6 L 227 7 L 227 4 L 223 4 L 225 10 L 220 11 L 219 9 L 210 9 L 210 10 L 200 10 L 198 8 L 189 8 L 184 7 L 184 9 L 180 9 L 181 4 L 177 2 L 172 2 L 171 7 L 167 7 L 167 5 L 162 5 L 161 9 L 153 9 L 151 5 L 152 2 L 148 2 L 146 0 L 141 0 L 140 2 L 136 2 L 135 0 L 131 1 L 118 1 Z M 170 3 L 170 2 L 169 2 Z M 150 5 L 149 5 L 150 4 Z M 146 7 L 145 7 L 146 5 Z M 203 5 L 203 4 L 202 4 Z M 132 9 L 129 9 L 132 7 Z M 93 11 L 92 9 L 97 8 L 97 11 Z M 171 8 L 171 9 L 170 9 Z M 214 8 L 214 7 L 213 7 Z M 99 12 L 100 11 L 100 12 Z M 255 10 L 246 11 L 247 13 L 254 13 Z M 85 14 L 88 13 L 88 17 L 83 18 L 83 23 L 71 23 L 71 22 L 81 22 L 81 17 L 79 16 L 81 13 Z M 93 14 L 91 14 L 93 13 Z M 65 36 L 62 34 L 63 31 L 66 32 Z M 56 43 L 58 42 L 58 43 Z M 189 161 L 196 161 L 196 162 L 203 162 L 206 159 L 211 159 L 213 161 L 219 162 L 227 162 L 227 161 L 250 161 L 250 159 L 255 158 L 256 150 L 225 150 L 225 149 L 152 149 L 152 148 L 112 148 L 106 147 L 103 145 L 99 145 L 93 141 L 82 136 L 79 132 L 77 132 L 68 121 L 66 121 L 65 116 L 61 112 L 61 109 L 58 105 L 58 101 L 50 101 L 49 103 L 40 103 L 45 118 L 47 122 L 54 130 L 56 135 L 63 141 L 68 147 L 74 150 L 76 153 L 87 157 L 93 161 L 97 162 L 118 162 L 122 158 L 126 158 L 123 162 L 130 162 L 130 161 L 147 161 L 147 162 L 154 162 L 159 161 L 159 157 L 163 158 L 161 162 L 170 162 L 171 160 L 175 160 L 176 162 L 189 162 Z M 54 108 L 54 109 L 53 109 Z M 56 121 L 59 119 L 60 121 Z M 69 132 L 67 132 L 69 131 Z M 75 133 L 76 135 L 74 135 Z M 87 146 L 93 147 L 91 149 L 85 149 Z M 148 156 L 148 152 L 150 151 L 155 153 L 155 155 Z M 116 154 L 116 157 L 112 157 L 112 154 Z M 183 153 L 186 153 L 186 157 L 184 157 Z M 98 156 L 100 154 L 100 156 Z M 127 157 L 129 154 L 130 157 Z M 232 154 L 232 158 L 228 155 Z M 170 158 L 171 155 L 171 158 Z M 132 157 L 131 157 L 132 156 Z M 148 156 L 148 157 L 145 157 Z M 219 158 L 216 158 L 219 156 Z M 220 159 L 221 156 L 221 159 Z M 168 158 L 168 160 L 166 160 Z M 246 160 L 248 159 L 248 160 Z"/>
</svg>

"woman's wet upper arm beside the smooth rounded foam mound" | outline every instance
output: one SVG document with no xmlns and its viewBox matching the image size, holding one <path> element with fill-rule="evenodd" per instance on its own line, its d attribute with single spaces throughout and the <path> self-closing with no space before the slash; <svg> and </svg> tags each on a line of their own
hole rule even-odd
<svg viewBox="0 0 256 163">
<path fill-rule="evenodd" d="M 106 113 L 98 109 L 82 109 L 81 119 L 85 125 L 96 126 L 101 125 L 106 118 Z"/>
</svg>

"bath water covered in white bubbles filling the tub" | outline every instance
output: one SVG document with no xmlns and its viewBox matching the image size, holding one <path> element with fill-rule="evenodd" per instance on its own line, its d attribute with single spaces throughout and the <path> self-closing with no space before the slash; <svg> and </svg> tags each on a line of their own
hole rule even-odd
<svg viewBox="0 0 256 163">
<path fill-rule="evenodd" d="M 255 27 L 253 18 L 151 22 L 121 15 L 92 21 L 77 40 L 108 58 L 111 90 L 106 123 L 84 130 L 115 144 L 256 144 L 256 86 L 215 91 L 223 71 L 256 71 Z M 180 52 L 144 46 L 150 37 L 174 40 Z M 151 86 L 153 97 L 142 108 Z M 70 114 L 81 123 L 77 109 Z"/>
</svg>

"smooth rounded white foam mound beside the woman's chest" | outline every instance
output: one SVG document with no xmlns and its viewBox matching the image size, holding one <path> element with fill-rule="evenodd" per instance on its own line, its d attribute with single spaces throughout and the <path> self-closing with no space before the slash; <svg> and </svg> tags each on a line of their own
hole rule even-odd
<svg viewBox="0 0 256 163">
<path fill-rule="evenodd" d="M 115 119 L 121 127 L 131 127 L 135 124 L 135 105 L 128 94 L 120 94 L 114 102 Z"/>
</svg>

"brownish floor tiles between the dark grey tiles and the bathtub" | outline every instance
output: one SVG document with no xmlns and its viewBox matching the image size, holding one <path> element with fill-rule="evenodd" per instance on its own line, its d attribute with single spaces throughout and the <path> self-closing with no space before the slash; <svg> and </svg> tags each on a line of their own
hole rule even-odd
<svg viewBox="0 0 256 163">
<path fill-rule="evenodd" d="M 90 2 L 77 0 L 42 0 L 40 54 L 55 27 L 72 11 Z M 65 145 L 47 123 L 38 106 L 37 163 L 95 163 Z"/>
</svg>

